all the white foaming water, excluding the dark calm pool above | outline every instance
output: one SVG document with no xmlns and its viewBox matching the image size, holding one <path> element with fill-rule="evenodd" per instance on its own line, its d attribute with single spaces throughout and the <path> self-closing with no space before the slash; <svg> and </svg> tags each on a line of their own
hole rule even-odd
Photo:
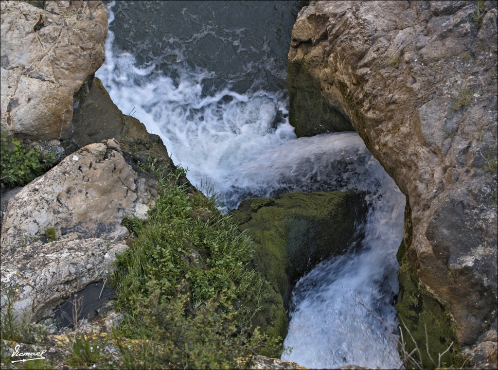
<svg viewBox="0 0 498 370">
<path fill-rule="evenodd" d="M 320 263 L 297 283 L 284 343 L 293 351 L 282 358 L 309 368 L 399 367 L 390 301 L 398 290 L 395 252 L 405 199 L 358 134 L 296 139 L 282 94 L 241 94 L 229 85 L 208 92 L 205 82 L 216 79 L 214 72 L 183 63 L 171 65 L 170 75 L 153 64 L 138 67 L 113 41 L 110 30 L 97 72 L 113 101 L 158 134 L 189 180 L 214 188 L 226 209 L 289 191 L 368 192 L 362 248 Z M 261 68 L 256 61 L 248 66 Z"/>
</svg>

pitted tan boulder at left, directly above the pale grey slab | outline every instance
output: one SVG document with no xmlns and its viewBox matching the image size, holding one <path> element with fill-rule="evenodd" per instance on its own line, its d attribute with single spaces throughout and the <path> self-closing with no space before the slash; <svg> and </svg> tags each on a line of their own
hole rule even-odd
<svg viewBox="0 0 498 370">
<path fill-rule="evenodd" d="M 123 240 L 125 215 L 146 218 L 157 197 L 153 179 L 139 177 L 116 140 L 89 144 L 26 185 L 8 203 L 3 248 L 31 243 L 49 228 L 65 239 Z"/>
</svg>

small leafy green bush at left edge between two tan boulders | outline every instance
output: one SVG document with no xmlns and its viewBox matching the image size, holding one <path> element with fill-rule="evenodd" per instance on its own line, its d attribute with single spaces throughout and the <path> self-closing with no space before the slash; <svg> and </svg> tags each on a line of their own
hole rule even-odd
<svg viewBox="0 0 498 370">
<path fill-rule="evenodd" d="M 1 187 L 24 186 L 55 164 L 53 154 L 43 155 L 40 148 L 26 148 L 19 140 L 1 137 Z"/>
</svg>

